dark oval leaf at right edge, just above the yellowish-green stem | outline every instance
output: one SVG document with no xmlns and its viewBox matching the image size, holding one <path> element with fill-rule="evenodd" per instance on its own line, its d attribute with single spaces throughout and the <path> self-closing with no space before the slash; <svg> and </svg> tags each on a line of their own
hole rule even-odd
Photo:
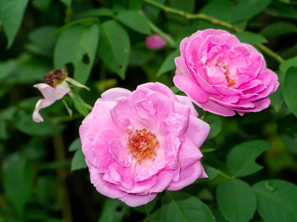
<svg viewBox="0 0 297 222">
<path fill-rule="evenodd" d="M 266 26 L 260 34 L 265 37 L 278 37 L 297 33 L 297 26 L 286 21 L 279 21 Z"/>
</svg>

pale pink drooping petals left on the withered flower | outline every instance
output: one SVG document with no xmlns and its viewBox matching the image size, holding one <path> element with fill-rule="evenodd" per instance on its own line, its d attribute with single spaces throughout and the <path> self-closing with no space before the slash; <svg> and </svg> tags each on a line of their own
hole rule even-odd
<svg viewBox="0 0 297 222">
<path fill-rule="evenodd" d="M 44 119 L 40 115 L 39 111 L 43 108 L 49 107 L 56 100 L 60 100 L 65 96 L 70 89 L 68 88 L 53 88 L 45 83 L 35 84 L 33 87 L 39 89 L 41 94 L 45 97 L 44 99 L 40 99 L 35 106 L 35 110 L 33 111 L 33 121 L 35 122 L 43 122 Z"/>
</svg>

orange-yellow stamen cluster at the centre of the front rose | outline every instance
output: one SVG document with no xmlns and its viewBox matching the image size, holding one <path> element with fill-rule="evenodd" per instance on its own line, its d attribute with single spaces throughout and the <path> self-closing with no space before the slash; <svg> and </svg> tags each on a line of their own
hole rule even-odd
<svg viewBox="0 0 297 222">
<path fill-rule="evenodd" d="M 127 129 L 129 132 L 129 129 Z M 155 148 L 159 148 L 159 141 L 154 133 L 147 131 L 147 129 L 136 130 L 135 133 L 130 132 L 131 136 L 128 138 L 129 153 L 141 164 L 144 159 L 155 160 Z"/>
</svg>

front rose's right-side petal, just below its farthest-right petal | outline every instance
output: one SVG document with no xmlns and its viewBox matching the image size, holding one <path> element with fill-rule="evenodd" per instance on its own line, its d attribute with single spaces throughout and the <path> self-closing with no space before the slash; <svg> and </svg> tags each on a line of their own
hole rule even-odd
<svg viewBox="0 0 297 222">
<path fill-rule="evenodd" d="M 181 164 L 181 169 L 186 169 L 193 163 L 197 162 L 201 157 L 202 153 L 197 145 L 190 139 L 189 136 L 186 135 L 184 142 L 178 150 L 178 159 Z"/>
</svg>

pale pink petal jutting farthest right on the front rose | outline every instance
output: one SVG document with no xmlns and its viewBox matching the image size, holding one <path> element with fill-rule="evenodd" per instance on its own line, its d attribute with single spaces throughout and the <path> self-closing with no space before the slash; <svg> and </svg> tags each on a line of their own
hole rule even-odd
<svg viewBox="0 0 297 222">
<path fill-rule="evenodd" d="M 234 113 L 235 114 L 235 113 Z M 209 125 L 194 116 L 190 116 L 186 134 L 199 147 L 204 143 L 210 131 Z"/>
</svg>

